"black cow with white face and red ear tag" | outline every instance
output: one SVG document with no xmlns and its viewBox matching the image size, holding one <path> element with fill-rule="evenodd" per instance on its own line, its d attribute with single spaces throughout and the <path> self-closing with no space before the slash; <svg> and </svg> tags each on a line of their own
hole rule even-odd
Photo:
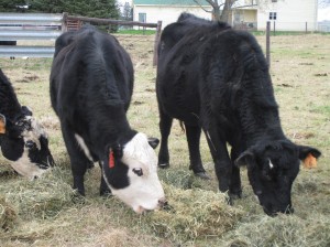
<svg viewBox="0 0 330 247">
<path fill-rule="evenodd" d="M 153 150 L 158 139 L 133 130 L 125 115 L 133 92 L 129 54 L 113 36 L 91 25 L 59 36 L 55 54 L 51 99 L 70 158 L 74 189 L 85 195 L 86 170 L 99 161 L 100 194 L 111 189 L 136 213 L 163 206 Z"/>
</svg>

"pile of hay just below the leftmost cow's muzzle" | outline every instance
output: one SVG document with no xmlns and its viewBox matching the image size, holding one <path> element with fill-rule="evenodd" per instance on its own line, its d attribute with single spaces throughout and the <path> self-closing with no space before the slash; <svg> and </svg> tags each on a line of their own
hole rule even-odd
<svg viewBox="0 0 330 247">
<path fill-rule="evenodd" d="M 70 185 L 64 181 L 59 168 L 33 181 L 20 178 L 2 191 L 6 191 L 7 202 L 23 218 L 55 216 L 64 206 L 73 204 L 75 195 Z"/>
</svg>

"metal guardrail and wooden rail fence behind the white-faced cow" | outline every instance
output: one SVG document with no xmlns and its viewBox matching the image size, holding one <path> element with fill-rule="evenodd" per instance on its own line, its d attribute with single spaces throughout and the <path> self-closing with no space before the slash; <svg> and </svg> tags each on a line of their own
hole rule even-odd
<svg viewBox="0 0 330 247">
<path fill-rule="evenodd" d="M 77 23 L 75 23 L 77 22 Z M 162 29 L 162 22 L 144 23 L 132 21 L 119 21 L 111 19 L 74 17 L 67 13 L 0 13 L 0 57 L 31 56 L 31 57 L 53 57 L 54 45 L 52 46 L 23 46 L 13 45 L 16 41 L 50 40 L 55 41 L 63 32 L 78 29 L 82 22 L 98 24 L 117 25 L 139 25 L 144 28 L 155 28 L 154 65 L 157 61 L 157 44 Z M 73 24 L 74 23 L 74 24 Z M 11 43 L 6 43 L 11 42 Z M 3 45 L 3 44 L 9 45 Z"/>
</svg>

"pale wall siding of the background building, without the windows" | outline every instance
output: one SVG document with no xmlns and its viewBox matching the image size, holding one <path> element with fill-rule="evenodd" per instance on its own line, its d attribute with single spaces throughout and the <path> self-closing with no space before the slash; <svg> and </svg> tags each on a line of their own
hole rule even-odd
<svg viewBox="0 0 330 247">
<path fill-rule="evenodd" d="M 266 30 L 266 22 L 272 22 L 272 28 L 277 31 L 305 31 L 306 23 L 308 31 L 317 31 L 317 9 L 318 0 L 278 0 L 271 2 L 262 8 L 244 8 L 241 9 L 242 17 L 240 22 L 256 23 L 257 30 Z M 211 7 L 206 7 L 211 11 Z M 146 22 L 156 23 L 162 21 L 164 29 L 172 22 L 175 22 L 182 12 L 194 13 L 199 18 L 211 20 L 211 13 L 204 11 L 199 6 L 172 6 L 172 4 L 135 4 L 133 1 L 133 18 L 139 21 L 139 13 L 146 14 Z M 276 12 L 276 20 L 270 20 L 270 12 Z M 234 20 L 234 17 L 232 17 Z M 233 25 L 232 23 L 230 23 Z M 235 23 L 237 24 L 237 23 Z"/>
</svg>

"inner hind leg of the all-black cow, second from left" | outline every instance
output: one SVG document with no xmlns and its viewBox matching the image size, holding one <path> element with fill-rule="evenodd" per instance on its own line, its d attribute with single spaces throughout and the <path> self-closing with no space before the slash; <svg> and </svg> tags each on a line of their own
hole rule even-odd
<svg viewBox="0 0 330 247">
<path fill-rule="evenodd" d="M 195 175 L 205 180 L 209 180 L 210 178 L 207 175 L 200 159 L 199 141 L 200 141 L 201 128 L 199 126 L 189 126 L 189 125 L 185 125 L 185 128 L 186 128 L 186 136 L 187 136 L 189 158 L 190 158 L 189 170 L 193 170 Z"/>
</svg>

